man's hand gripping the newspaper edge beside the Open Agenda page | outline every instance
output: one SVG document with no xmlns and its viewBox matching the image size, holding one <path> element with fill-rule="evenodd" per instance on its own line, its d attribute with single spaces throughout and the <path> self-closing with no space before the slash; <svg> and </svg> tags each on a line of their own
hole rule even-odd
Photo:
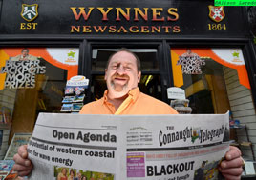
<svg viewBox="0 0 256 180">
<path fill-rule="evenodd" d="M 18 175 L 29 175 L 32 171 L 32 162 L 28 159 L 27 145 L 20 146 L 18 153 L 13 156 L 15 164 L 13 170 L 18 172 Z"/>
</svg>

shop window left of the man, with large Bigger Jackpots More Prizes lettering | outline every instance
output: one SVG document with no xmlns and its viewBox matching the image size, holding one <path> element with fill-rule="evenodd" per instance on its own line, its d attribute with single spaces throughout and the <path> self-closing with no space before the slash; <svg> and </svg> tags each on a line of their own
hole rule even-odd
<svg viewBox="0 0 256 180">
<path fill-rule="evenodd" d="M 11 137 L 32 132 L 39 112 L 59 112 L 66 82 L 77 75 L 78 53 L 73 48 L 0 49 L 1 123 L 11 125 Z"/>
</svg>

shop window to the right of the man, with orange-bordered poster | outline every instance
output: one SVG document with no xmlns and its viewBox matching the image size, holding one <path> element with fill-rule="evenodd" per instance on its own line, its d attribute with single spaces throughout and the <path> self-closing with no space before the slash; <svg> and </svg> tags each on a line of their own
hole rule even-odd
<svg viewBox="0 0 256 180">
<path fill-rule="evenodd" d="M 174 85 L 185 90 L 192 113 L 255 114 L 242 50 L 171 49 L 171 58 Z"/>
</svg>

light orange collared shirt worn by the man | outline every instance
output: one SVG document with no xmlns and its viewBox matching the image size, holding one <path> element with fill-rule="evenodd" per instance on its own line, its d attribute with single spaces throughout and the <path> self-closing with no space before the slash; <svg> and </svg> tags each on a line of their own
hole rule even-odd
<svg viewBox="0 0 256 180">
<path fill-rule="evenodd" d="M 108 102 L 107 93 L 108 90 L 101 99 L 84 105 L 80 114 L 178 114 L 171 106 L 140 92 L 139 88 L 130 90 L 128 97 L 115 110 L 114 105 Z"/>
</svg>

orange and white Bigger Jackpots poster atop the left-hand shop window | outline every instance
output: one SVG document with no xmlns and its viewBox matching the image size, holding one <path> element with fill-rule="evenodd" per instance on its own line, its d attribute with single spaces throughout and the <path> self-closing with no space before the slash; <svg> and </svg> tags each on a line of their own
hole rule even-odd
<svg viewBox="0 0 256 180">
<path fill-rule="evenodd" d="M 3 90 L 4 85 L 8 85 L 9 88 L 33 88 L 34 87 L 34 76 L 32 75 L 32 85 L 20 85 L 22 80 L 30 78 L 29 75 L 17 75 L 16 73 L 28 73 L 30 74 L 41 74 L 44 73 L 48 63 L 53 65 L 56 69 L 67 70 L 67 79 L 77 75 L 78 71 L 78 59 L 79 49 L 78 48 L 4 48 L 0 49 L 0 90 Z M 44 64 L 45 66 L 42 66 Z M 14 66 L 11 68 L 11 66 Z M 20 67 L 16 67 L 20 66 Z M 30 67 L 31 66 L 31 67 Z M 14 70 L 16 67 L 17 70 Z M 22 69 L 22 67 L 27 67 Z M 51 67 L 51 66 L 50 66 Z M 1 70 L 2 68 L 2 70 Z M 9 70 L 10 69 L 10 70 Z M 36 70 L 34 70 L 36 69 Z M 51 74 L 52 68 L 49 69 Z M 16 71 L 14 73 L 14 71 Z M 35 72 L 34 72 L 35 71 Z M 34 73 L 33 73 L 34 72 Z M 10 74 L 8 74 L 10 73 Z M 12 74 L 12 75 L 11 75 Z M 13 83 L 14 79 L 19 83 Z M 9 79 L 9 80 L 8 80 Z M 5 81 L 8 80 L 6 83 Z M 11 81 L 12 83 L 8 83 Z M 27 80 L 26 80 L 27 81 Z M 28 83 L 27 83 L 28 84 Z M 30 83 L 29 83 L 30 84 Z M 8 88 L 6 87 L 6 88 Z"/>
</svg>

